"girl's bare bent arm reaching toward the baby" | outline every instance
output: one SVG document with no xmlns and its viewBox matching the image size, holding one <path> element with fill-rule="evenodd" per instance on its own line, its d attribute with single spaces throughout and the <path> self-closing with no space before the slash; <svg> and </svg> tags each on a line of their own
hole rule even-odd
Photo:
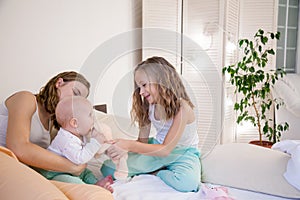
<svg viewBox="0 0 300 200">
<path fill-rule="evenodd" d="M 192 108 L 186 103 L 182 103 L 179 112 L 173 119 L 173 124 L 167 133 L 163 144 L 145 144 L 133 140 L 118 140 L 116 145 L 130 152 L 149 156 L 168 156 L 169 153 L 176 147 L 179 139 L 182 136 L 186 124 L 195 120 Z"/>
</svg>

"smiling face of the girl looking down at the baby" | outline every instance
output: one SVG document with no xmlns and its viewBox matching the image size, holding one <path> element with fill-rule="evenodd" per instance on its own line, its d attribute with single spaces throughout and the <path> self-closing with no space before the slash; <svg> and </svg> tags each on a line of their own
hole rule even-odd
<svg viewBox="0 0 300 200">
<path fill-rule="evenodd" d="M 144 97 L 149 104 L 155 104 L 158 100 L 158 91 L 154 82 L 149 80 L 149 77 L 143 70 L 137 70 L 135 72 L 135 83 L 140 89 L 140 95 Z"/>
</svg>

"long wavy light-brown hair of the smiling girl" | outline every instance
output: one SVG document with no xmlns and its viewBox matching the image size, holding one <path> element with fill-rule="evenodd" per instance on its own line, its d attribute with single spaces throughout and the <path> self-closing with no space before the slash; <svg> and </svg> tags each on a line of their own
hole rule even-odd
<svg viewBox="0 0 300 200">
<path fill-rule="evenodd" d="M 184 99 L 193 108 L 183 82 L 176 69 L 162 57 L 151 57 L 138 64 L 134 70 L 134 74 L 142 70 L 148 76 L 151 84 L 156 86 L 157 92 L 160 94 L 158 99 L 161 106 L 165 108 L 166 119 L 173 118 L 180 109 L 180 100 Z M 150 123 L 149 103 L 140 95 L 140 89 L 136 83 L 133 93 L 133 102 L 131 116 L 133 121 L 138 122 L 139 126 L 145 126 Z"/>
</svg>

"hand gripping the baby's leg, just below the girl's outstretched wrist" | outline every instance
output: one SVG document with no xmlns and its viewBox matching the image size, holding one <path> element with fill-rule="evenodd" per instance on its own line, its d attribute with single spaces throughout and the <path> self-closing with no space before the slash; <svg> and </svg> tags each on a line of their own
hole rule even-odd
<svg viewBox="0 0 300 200">
<path fill-rule="evenodd" d="M 119 160 L 128 152 L 129 140 L 117 139 L 109 141 L 112 145 L 106 150 L 107 155 L 113 160 Z"/>
</svg>

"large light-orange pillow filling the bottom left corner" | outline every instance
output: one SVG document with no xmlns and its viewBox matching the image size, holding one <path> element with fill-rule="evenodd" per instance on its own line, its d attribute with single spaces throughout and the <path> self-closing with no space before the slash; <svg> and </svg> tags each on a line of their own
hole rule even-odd
<svg viewBox="0 0 300 200">
<path fill-rule="evenodd" d="M 0 147 L 1 199 L 68 199 L 50 181 L 11 155 L 11 151 Z"/>
</svg>

